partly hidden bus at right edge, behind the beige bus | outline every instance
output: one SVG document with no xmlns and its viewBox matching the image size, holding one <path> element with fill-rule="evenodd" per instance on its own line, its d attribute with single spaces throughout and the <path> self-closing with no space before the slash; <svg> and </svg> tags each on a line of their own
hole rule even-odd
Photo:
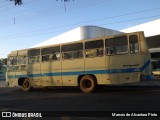
<svg viewBox="0 0 160 120">
<path fill-rule="evenodd" d="M 154 79 L 160 79 L 160 48 L 149 49 Z"/>
</svg>

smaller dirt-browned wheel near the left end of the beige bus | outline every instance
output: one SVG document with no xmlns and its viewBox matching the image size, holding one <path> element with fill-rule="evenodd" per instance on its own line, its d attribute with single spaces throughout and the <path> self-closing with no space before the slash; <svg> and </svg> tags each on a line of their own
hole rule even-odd
<svg viewBox="0 0 160 120">
<path fill-rule="evenodd" d="M 22 86 L 21 86 L 22 90 L 27 92 L 30 91 L 32 89 L 30 81 L 28 78 L 25 78 L 22 82 Z"/>
</svg>

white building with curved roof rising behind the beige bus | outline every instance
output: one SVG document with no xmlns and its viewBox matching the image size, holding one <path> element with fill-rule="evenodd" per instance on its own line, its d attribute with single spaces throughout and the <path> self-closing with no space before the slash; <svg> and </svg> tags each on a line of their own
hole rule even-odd
<svg viewBox="0 0 160 120">
<path fill-rule="evenodd" d="M 42 43 L 39 43 L 33 47 L 40 47 L 137 31 L 144 31 L 149 48 L 160 48 L 160 19 L 136 25 L 120 31 L 102 28 L 98 26 L 81 26 L 56 37 L 53 37 L 49 40 L 46 40 Z"/>
</svg>

